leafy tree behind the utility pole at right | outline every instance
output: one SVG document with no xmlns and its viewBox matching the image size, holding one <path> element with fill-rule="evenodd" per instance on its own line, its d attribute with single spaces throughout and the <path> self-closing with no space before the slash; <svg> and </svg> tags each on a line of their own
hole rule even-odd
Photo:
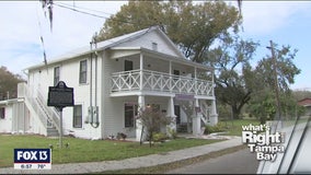
<svg viewBox="0 0 311 175">
<path fill-rule="evenodd" d="M 273 47 L 277 47 L 277 45 L 274 44 Z M 266 56 L 260 60 L 256 66 L 255 77 L 257 82 L 261 83 L 257 83 L 257 91 L 253 95 L 253 100 L 249 106 L 251 113 L 260 115 L 261 117 L 269 116 L 270 119 L 274 119 L 274 115 L 278 108 L 275 82 L 278 82 L 279 108 L 283 116 L 295 116 L 297 108 L 300 110 L 297 106 L 297 100 L 295 100 L 295 96 L 289 89 L 289 84 L 295 83 L 295 75 L 300 73 L 300 69 L 292 62 L 297 49 L 291 51 L 290 46 L 283 46 L 281 49 L 274 50 L 276 50 L 274 52 L 275 58 Z M 275 63 L 274 61 L 276 62 L 275 68 L 272 67 Z M 276 69 L 277 77 L 273 75 L 274 69 Z M 277 81 L 275 78 L 277 78 Z"/>
</svg>

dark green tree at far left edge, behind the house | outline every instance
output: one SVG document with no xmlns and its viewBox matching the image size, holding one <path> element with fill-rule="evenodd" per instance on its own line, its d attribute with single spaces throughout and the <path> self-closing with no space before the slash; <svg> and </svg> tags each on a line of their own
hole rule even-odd
<svg viewBox="0 0 311 175">
<path fill-rule="evenodd" d="M 5 67 L 0 68 L 0 101 L 18 97 L 18 83 L 24 81 L 21 75 L 11 73 Z"/>
</svg>

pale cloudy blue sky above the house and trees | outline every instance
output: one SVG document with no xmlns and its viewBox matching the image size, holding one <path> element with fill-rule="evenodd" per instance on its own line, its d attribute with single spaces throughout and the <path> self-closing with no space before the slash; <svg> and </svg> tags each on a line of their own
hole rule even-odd
<svg viewBox="0 0 311 175">
<path fill-rule="evenodd" d="M 55 1 L 53 30 L 38 1 L 0 1 L 0 66 L 14 73 L 47 61 L 67 51 L 89 46 L 92 35 L 103 26 L 105 19 L 119 11 L 127 1 Z M 229 2 L 228 2 L 229 3 Z M 237 4 L 235 1 L 232 4 Z M 89 15 L 59 5 L 76 7 Z M 91 10 L 91 11 L 90 11 Z M 311 90 L 311 2 L 308 1 L 243 1 L 244 38 L 262 44 L 256 59 L 270 55 L 269 40 L 298 49 L 296 66 L 301 73 L 292 89 Z M 101 18 L 99 18 L 101 16 Z M 44 46 L 39 37 L 44 37 Z"/>
</svg>

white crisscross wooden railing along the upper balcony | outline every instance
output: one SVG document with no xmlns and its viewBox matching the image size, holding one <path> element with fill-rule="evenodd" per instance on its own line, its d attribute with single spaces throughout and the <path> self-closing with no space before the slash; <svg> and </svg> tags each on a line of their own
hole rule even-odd
<svg viewBox="0 0 311 175">
<path fill-rule="evenodd" d="M 164 72 L 131 70 L 112 73 L 111 79 L 112 93 L 141 90 L 212 96 L 211 81 Z"/>
</svg>

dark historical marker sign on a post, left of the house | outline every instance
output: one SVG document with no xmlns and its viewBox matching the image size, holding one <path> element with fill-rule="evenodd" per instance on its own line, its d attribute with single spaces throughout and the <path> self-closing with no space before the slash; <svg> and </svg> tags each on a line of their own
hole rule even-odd
<svg viewBox="0 0 311 175">
<path fill-rule="evenodd" d="M 73 88 L 68 88 L 64 81 L 59 81 L 56 86 L 48 88 L 47 106 L 59 109 L 59 147 L 62 147 L 62 108 L 73 106 Z"/>
</svg>

